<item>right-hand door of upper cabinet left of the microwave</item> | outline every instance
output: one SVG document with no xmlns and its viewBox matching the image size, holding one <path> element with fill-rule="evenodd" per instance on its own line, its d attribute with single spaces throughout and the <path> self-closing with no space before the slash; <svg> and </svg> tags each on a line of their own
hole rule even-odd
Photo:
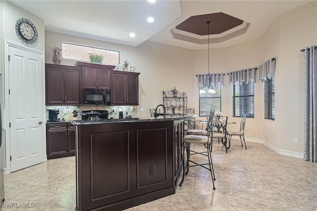
<svg viewBox="0 0 317 211">
<path fill-rule="evenodd" d="M 79 70 L 64 70 L 64 104 L 79 105 Z"/>
</svg>

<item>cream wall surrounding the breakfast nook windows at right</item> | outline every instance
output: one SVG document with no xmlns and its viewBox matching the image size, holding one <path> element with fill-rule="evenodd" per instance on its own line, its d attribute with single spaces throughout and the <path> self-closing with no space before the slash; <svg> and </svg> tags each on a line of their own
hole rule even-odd
<svg viewBox="0 0 317 211">
<path fill-rule="evenodd" d="M 264 35 L 223 49 L 211 50 L 212 73 L 227 73 L 256 67 L 276 57 L 275 121 L 264 119 L 264 83 L 255 84 L 255 118 L 246 122 L 246 137 L 260 141 L 280 154 L 302 158 L 304 139 L 304 53 L 317 44 L 317 1 L 280 15 Z M 206 73 L 208 52 L 195 51 L 195 73 Z M 204 66 L 205 65 L 205 66 Z M 205 68 L 205 70 L 204 70 Z M 195 102 L 198 102 L 197 82 Z M 228 76 L 222 89 L 222 113 L 232 117 L 231 86 Z M 198 103 L 195 105 L 198 110 Z M 239 130 L 239 124 L 228 126 Z M 230 129 L 228 128 L 228 129 Z M 298 138 L 298 144 L 293 144 Z"/>
</svg>

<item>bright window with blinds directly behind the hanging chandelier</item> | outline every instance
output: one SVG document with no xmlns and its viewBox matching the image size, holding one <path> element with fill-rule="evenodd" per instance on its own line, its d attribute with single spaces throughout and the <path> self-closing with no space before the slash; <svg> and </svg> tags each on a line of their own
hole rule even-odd
<svg viewBox="0 0 317 211">
<path fill-rule="evenodd" d="M 201 90 L 206 93 L 202 94 Z M 216 111 L 221 111 L 221 84 L 218 84 L 213 90 L 216 94 L 208 93 L 208 88 L 203 85 L 199 85 L 199 115 L 206 116 L 209 115 L 210 110 L 214 109 Z"/>
</svg>

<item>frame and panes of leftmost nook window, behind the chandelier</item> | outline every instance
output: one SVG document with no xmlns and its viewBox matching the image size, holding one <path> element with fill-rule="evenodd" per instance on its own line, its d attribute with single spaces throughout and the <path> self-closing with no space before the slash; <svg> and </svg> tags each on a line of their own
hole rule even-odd
<svg viewBox="0 0 317 211">
<path fill-rule="evenodd" d="M 216 92 L 216 94 L 210 94 L 208 93 L 208 88 L 204 87 L 205 90 L 205 94 L 201 94 L 200 91 L 202 90 L 203 85 L 199 84 L 199 88 L 198 88 L 198 96 L 199 96 L 199 116 L 206 116 L 209 115 L 210 110 L 214 109 L 216 111 L 220 111 L 221 112 L 221 101 L 222 101 L 222 85 L 219 83 L 218 86 L 214 87 L 212 86 L 213 90 Z M 219 94 L 220 93 L 220 94 Z M 203 97 L 204 96 L 204 97 Z M 210 105 L 210 107 L 208 109 L 204 109 L 203 107 L 207 107 L 206 105 L 203 106 L 201 105 L 201 101 L 203 101 L 204 99 L 206 99 L 206 101 L 210 101 L 209 103 L 213 103 L 214 101 L 217 101 L 219 106 L 213 106 Z"/>
</svg>

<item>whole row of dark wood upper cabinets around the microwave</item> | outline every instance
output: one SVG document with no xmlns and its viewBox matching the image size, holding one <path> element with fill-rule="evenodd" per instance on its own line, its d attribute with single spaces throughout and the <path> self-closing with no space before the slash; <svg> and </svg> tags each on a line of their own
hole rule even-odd
<svg viewBox="0 0 317 211">
<path fill-rule="evenodd" d="M 139 105 L 139 75 L 115 66 L 77 62 L 75 66 L 46 64 L 46 105 L 83 104 L 83 89 L 110 89 L 111 105 Z"/>
</svg>

